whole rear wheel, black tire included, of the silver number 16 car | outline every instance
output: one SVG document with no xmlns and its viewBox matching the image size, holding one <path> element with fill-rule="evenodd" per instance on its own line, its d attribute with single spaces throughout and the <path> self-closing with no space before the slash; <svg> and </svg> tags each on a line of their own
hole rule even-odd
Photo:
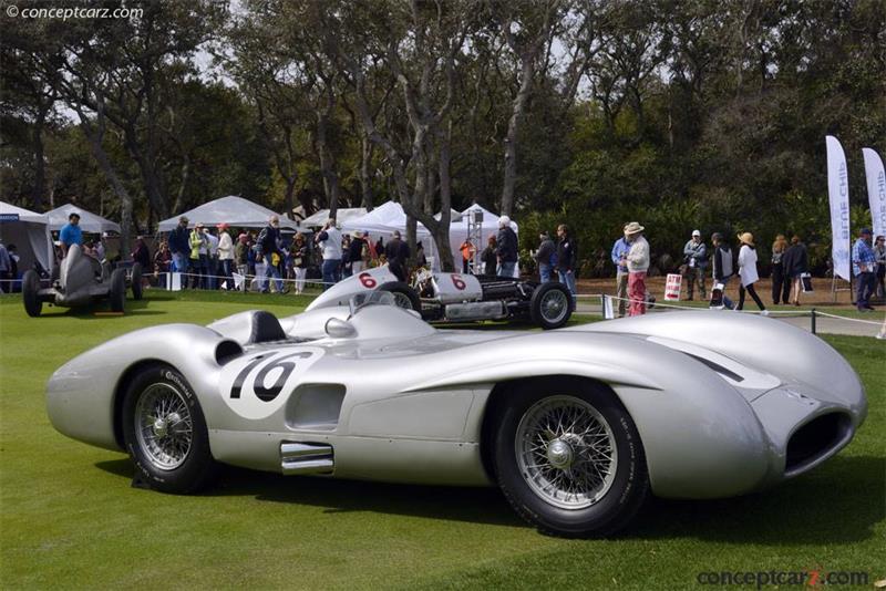
<svg viewBox="0 0 886 591">
<path fill-rule="evenodd" d="M 155 490 L 175 495 L 196 492 L 215 479 L 220 466 L 209 450 L 206 419 L 184 375 L 168 365 L 148 365 L 135 374 L 124 395 L 123 439 L 137 477 Z"/>
</svg>

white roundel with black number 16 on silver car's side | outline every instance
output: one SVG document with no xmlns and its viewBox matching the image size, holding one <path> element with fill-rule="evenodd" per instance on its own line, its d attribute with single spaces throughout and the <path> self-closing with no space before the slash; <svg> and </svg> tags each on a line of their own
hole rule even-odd
<svg viewBox="0 0 886 591">
<path fill-rule="evenodd" d="M 222 371 L 222 398 L 244 418 L 265 418 L 280 408 L 322 349 L 276 351 L 236 360 Z"/>
</svg>

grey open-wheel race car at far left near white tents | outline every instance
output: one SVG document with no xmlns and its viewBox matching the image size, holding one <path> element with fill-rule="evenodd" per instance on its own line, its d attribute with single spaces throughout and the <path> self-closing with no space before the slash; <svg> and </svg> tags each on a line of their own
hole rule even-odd
<svg viewBox="0 0 886 591">
<path fill-rule="evenodd" d="M 39 317 L 43 303 L 73 308 L 104 299 L 109 300 L 111 311 L 123 312 L 128 287 L 134 300 L 142 299 L 142 266 L 137 262 L 130 269 L 112 270 L 107 261 L 84 255 L 80 246 L 72 245 L 56 269 L 58 277 L 53 273 L 47 288 L 41 287 L 37 271 L 24 272 L 21 291 L 28 315 Z"/>
</svg>

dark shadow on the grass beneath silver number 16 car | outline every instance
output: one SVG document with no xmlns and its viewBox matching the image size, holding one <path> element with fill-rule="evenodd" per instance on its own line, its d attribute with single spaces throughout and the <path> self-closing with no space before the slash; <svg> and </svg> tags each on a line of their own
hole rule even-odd
<svg viewBox="0 0 886 591">
<path fill-rule="evenodd" d="M 96 467 L 126 480 L 133 476 L 128 459 Z M 766 546 L 867 540 L 874 536 L 875 523 L 886 517 L 884 470 L 886 458 L 837 457 L 818 471 L 755 495 L 723 500 L 652 499 L 619 538 L 690 537 Z M 228 468 L 205 494 L 310 505 L 330 514 L 371 511 L 523 525 L 497 488 L 389 485 Z"/>
</svg>

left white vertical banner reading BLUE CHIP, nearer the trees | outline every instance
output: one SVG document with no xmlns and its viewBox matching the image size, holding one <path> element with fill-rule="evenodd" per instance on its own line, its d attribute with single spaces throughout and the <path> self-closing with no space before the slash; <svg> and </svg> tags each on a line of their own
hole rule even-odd
<svg viewBox="0 0 886 591">
<path fill-rule="evenodd" d="M 852 281 L 849 274 L 849 172 L 843 146 L 833 135 L 825 136 L 827 145 L 827 196 L 831 201 L 831 256 L 834 276 Z"/>
</svg>

